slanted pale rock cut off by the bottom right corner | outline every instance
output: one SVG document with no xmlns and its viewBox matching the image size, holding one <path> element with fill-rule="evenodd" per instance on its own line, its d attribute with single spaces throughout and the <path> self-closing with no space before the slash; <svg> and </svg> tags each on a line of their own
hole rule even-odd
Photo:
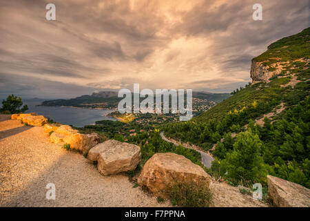
<svg viewBox="0 0 310 221">
<path fill-rule="evenodd" d="M 267 175 L 268 193 L 279 207 L 309 207 L 310 190 L 300 184 Z"/>
</svg>

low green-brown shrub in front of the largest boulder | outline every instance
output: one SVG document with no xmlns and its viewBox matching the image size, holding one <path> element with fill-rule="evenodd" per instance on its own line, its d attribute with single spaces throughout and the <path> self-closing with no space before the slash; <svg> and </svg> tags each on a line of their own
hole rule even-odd
<svg viewBox="0 0 310 221">
<path fill-rule="evenodd" d="M 174 206 L 209 207 L 212 193 L 205 182 L 174 182 L 163 191 Z"/>
</svg>

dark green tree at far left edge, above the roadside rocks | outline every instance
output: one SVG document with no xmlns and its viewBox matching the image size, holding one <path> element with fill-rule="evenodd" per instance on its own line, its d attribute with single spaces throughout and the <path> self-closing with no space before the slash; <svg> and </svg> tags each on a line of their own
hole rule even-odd
<svg viewBox="0 0 310 221">
<path fill-rule="evenodd" d="M 21 101 L 21 97 L 17 97 L 14 95 L 8 95 L 8 98 L 6 100 L 3 99 L 2 101 L 2 108 L 0 111 L 6 111 L 10 113 L 23 113 L 28 110 L 28 106 L 24 105 Z"/>
</svg>

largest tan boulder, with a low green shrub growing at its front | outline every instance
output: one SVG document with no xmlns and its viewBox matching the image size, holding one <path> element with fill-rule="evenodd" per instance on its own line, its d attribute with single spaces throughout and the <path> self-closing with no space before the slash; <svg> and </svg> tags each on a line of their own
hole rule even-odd
<svg viewBox="0 0 310 221">
<path fill-rule="evenodd" d="M 192 163 L 183 155 L 175 153 L 156 153 L 145 163 L 138 184 L 146 186 L 155 194 L 162 193 L 169 184 L 178 182 L 206 182 L 211 177 L 203 168 Z"/>
</svg>

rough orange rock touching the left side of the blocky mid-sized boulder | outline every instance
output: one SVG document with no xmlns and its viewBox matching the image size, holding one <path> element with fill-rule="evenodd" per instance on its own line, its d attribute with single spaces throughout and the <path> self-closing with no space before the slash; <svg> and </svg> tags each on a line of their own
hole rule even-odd
<svg viewBox="0 0 310 221">
<path fill-rule="evenodd" d="M 96 144 L 99 144 L 100 137 L 96 133 L 70 133 L 63 138 L 63 142 L 70 144 L 71 149 L 76 149 L 85 154 L 88 153 L 90 148 L 96 146 Z"/>
</svg>

